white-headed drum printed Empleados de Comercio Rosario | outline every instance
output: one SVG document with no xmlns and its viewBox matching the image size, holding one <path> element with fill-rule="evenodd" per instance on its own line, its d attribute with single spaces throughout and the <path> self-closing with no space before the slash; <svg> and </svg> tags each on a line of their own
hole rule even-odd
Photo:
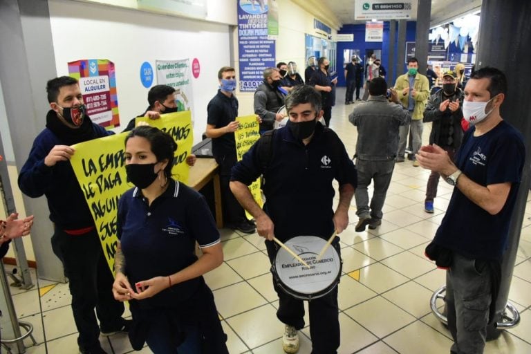
<svg viewBox="0 0 531 354">
<path fill-rule="evenodd" d="M 271 271 L 274 281 L 284 292 L 297 299 L 311 300 L 328 294 L 337 286 L 342 269 L 337 250 L 330 245 L 317 261 L 326 240 L 317 236 L 297 236 L 284 244 L 310 265 L 308 269 L 288 251 L 279 248 Z"/>
</svg>

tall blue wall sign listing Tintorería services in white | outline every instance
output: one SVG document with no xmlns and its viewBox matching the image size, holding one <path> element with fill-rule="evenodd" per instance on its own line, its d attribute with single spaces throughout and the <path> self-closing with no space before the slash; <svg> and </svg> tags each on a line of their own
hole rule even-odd
<svg viewBox="0 0 531 354">
<path fill-rule="evenodd" d="M 263 82 L 263 70 L 275 66 L 274 40 L 268 39 L 268 1 L 238 1 L 240 91 Z"/>
</svg>

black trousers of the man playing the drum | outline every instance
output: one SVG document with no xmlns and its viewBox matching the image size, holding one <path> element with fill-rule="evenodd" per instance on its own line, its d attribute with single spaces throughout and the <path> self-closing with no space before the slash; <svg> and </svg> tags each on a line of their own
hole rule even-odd
<svg viewBox="0 0 531 354">
<path fill-rule="evenodd" d="M 333 245 L 339 253 L 339 245 Z M 277 254 L 278 246 L 272 241 L 265 241 L 271 263 Z M 341 254 L 339 253 L 339 257 Z M 273 275 L 273 287 L 279 295 L 278 319 L 283 324 L 294 326 L 297 330 L 304 328 L 304 300 L 296 299 L 283 292 Z M 337 305 L 337 286 L 324 297 L 308 301 L 310 313 L 310 336 L 312 337 L 312 354 L 334 354 L 339 348 L 339 306 Z"/>
</svg>

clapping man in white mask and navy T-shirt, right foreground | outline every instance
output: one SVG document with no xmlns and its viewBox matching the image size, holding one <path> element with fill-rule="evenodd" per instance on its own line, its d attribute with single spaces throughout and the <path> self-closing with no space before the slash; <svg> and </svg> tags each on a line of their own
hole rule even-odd
<svg viewBox="0 0 531 354">
<path fill-rule="evenodd" d="M 465 87 L 463 116 L 474 124 L 454 161 L 437 145 L 422 147 L 420 166 L 437 171 L 454 193 L 426 254 L 446 276 L 451 353 L 483 353 L 487 324 L 494 319 L 501 258 L 521 181 L 523 138 L 500 115 L 505 74 L 481 68 Z"/>
</svg>

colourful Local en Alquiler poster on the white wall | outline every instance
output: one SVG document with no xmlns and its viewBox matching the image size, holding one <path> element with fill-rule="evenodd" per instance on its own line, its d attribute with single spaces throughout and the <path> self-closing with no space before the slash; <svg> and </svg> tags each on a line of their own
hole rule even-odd
<svg viewBox="0 0 531 354">
<path fill-rule="evenodd" d="M 86 114 L 102 127 L 120 127 L 114 63 L 83 59 L 68 63 L 68 74 L 80 82 Z"/>
</svg>

